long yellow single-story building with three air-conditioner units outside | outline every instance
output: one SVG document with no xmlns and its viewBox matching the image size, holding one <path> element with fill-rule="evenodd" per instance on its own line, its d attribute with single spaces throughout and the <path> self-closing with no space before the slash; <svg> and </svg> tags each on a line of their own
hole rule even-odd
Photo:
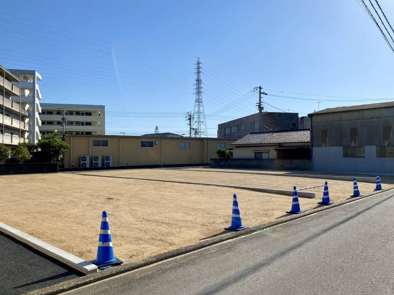
<svg viewBox="0 0 394 295">
<path fill-rule="evenodd" d="M 155 165 L 204 165 L 217 158 L 219 148 L 231 148 L 235 139 L 195 137 L 141 137 L 66 135 L 71 145 L 65 168 Z"/>
</svg>

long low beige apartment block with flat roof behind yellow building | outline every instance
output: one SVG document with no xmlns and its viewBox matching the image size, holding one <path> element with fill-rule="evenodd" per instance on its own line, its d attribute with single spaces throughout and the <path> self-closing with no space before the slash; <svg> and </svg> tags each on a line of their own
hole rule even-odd
<svg viewBox="0 0 394 295">
<path fill-rule="evenodd" d="M 63 113 L 65 113 L 66 134 L 95 135 L 105 133 L 105 106 L 42 103 L 41 134 L 63 130 Z"/>
</svg>

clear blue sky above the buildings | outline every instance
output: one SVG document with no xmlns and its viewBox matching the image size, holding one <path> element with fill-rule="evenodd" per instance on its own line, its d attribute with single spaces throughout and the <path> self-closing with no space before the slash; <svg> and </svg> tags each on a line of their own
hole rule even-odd
<svg viewBox="0 0 394 295">
<path fill-rule="evenodd" d="M 303 116 L 371 103 L 305 94 L 394 100 L 394 53 L 357 0 L 56 2 L 3 3 L 0 64 L 37 70 L 42 103 L 104 104 L 108 133 L 187 133 L 197 57 L 206 115 L 259 85 Z M 379 2 L 394 25 L 394 2 Z M 256 112 L 258 95 L 243 98 L 207 116 L 210 136 Z"/>
</svg>

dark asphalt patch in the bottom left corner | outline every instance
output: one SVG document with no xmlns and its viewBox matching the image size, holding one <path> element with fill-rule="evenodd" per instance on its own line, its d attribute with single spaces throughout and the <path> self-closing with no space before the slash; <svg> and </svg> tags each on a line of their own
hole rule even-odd
<svg viewBox="0 0 394 295">
<path fill-rule="evenodd" d="M 81 275 L 0 233 L 0 294 L 23 294 Z"/>
</svg>

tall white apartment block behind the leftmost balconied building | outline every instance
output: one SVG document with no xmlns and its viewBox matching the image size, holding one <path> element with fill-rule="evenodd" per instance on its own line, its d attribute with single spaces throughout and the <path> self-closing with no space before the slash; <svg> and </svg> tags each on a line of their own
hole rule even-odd
<svg viewBox="0 0 394 295">
<path fill-rule="evenodd" d="M 10 69 L 9 71 L 12 72 L 19 80 L 18 82 L 12 82 L 12 84 L 20 87 L 20 95 L 12 95 L 11 99 L 14 102 L 20 101 L 27 105 L 29 110 L 29 141 L 36 143 L 41 139 L 39 130 L 41 121 L 38 116 L 38 113 L 41 112 L 41 92 L 37 81 L 41 81 L 42 78 L 40 74 L 34 70 Z"/>
</svg>

